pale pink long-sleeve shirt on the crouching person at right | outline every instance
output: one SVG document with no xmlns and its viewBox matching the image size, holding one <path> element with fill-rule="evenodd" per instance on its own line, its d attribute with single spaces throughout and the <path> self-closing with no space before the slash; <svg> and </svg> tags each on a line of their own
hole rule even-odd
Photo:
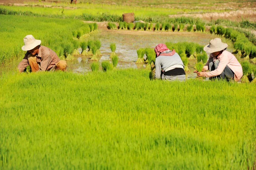
<svg viewBox="0 0 256 170">
<path fill-rule="evenodd" d="M 210 58 L 213 58 L 213 61 L 219 59 L 220 63 L 217 69 L 210 72 L 203 72 L 204 77 L 218 76 L 223 72 L 226 66 L 228 66 L 234 72 L 234 81 L 239 81 L 240 78 L 243 76 L 242 66 L 232 53 L 224 50 L 219 56 L 217 56 L 217 58 L 211 53 L 209 59 Z M 209 70 L 209 59 L 204 66 L 204 71 Z"/>
</svg>

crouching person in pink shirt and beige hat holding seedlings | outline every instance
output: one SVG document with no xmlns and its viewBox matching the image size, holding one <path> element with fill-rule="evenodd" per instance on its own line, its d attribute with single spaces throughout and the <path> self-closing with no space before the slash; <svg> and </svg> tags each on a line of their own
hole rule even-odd
<svg viewBox="0 0 256 170">
<path fill-rule="evenodd" d="M 203 70 L 194 71 L 197 77 L 217 77 L 218 79 L 233 79 L 239 81 L 243 76 L 241 64 L 236 57 L 226 51 L 228 44 L 221 42 L 220 38 L 210 41 L 209 45 L 204 47 L 204 51 L 211 53 L 210 57 L 203 67 Z M 209 72 L 206 72 L 209 70 Z"/>
</svg>

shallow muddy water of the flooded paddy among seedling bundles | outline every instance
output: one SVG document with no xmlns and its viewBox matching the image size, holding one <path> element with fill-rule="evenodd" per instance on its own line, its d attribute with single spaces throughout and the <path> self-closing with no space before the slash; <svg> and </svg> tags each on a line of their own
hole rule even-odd
<svg viewBox="0 0 256 170">
<path fill-rule="evenodd" d="M 190 33 L 190 32 L 152 32 L 146 31 L 102 31 L 91 37 L 101 41 L 102 57 L 99 62 L 111 60 L 109 58 L 111 50 L 110 43 L 116 43 L 116 54 L 119 56 L 117 68 L 139 68 L 143 69 L 145 65 L 136 65 L 137 60 L 136 49 L 150 47 L 154 48 L 159 43 L 165 42 L 196 42 L 200 45 L 209 43 L 209 40 L 215 38 L 214 35 L 206 33 Z M 228 49 L 229 50 L 229 49 Z M 81 49 L 79 52 L 81 53 Z M 232 51 L 230 49 L 229 51 Z M 146 57 L 146 56 L 144 56 Z M 68 63 L 68 71 L 74 73 L 83 73 L 90 71 L 90 56 L 75 56 L 76 60 Z M 193 73 L 196 61 L 189 61 L 188 67 L 190 72 L 187 73 L 189 78 L 196 77 Z"/>
</svg>

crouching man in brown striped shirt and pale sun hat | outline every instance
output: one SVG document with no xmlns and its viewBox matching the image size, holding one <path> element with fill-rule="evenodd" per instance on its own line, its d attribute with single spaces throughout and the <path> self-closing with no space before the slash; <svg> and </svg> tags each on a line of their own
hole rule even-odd
<svg viewBox="0 0 256 170">
<path fill-rule="evenodd" d="M 60 60 L 57 54 L 51 49 L 40 46 L 41 40 L 36 40 L 32 35 L 27 35 L 23 40 L 24 46 L 21 49 L 27 51 L 27 53 L 18 65 L 19 72 L 23 72 L 28 65 L 32 72 L 66 71 L 66 61 Z"/>
</svg>

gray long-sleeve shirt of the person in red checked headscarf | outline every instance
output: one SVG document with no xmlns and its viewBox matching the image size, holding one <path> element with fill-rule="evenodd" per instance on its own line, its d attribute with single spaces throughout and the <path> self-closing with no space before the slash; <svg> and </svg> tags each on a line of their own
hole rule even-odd
<svg viewBox="0 0 256 170">
<path fill-rule="evenodd" d="M 160 54 L 156 58 L 156 61 L 155 61 L 155 67 L 156 67 L 155 78 L 159 79 L 160 76 L 161 76 L 161 71 L 162 70 L 166 70 L 168 67 L 170 67 L 172 65 L 175 65 L 175 64 L 182 65 L 183 69 L 184 69 L 184 64 L 183 64 L 183 62 L 182 62 L 178 53 L 175 53 L 172 56 L 164 56 L 164 55 Z"/>
</svg>

